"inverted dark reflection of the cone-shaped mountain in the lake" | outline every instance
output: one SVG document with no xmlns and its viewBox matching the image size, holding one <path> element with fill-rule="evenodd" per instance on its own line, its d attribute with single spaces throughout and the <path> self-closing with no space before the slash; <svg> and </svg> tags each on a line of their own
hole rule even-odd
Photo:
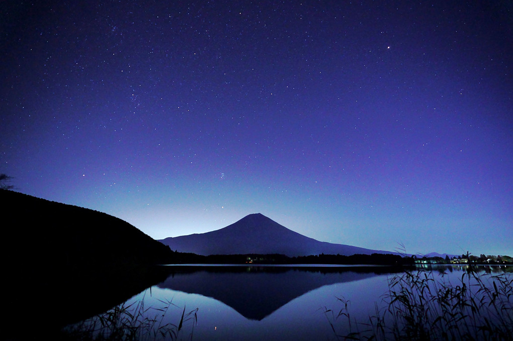
<svg viewBox="0 0 513 341">
<path fill-rule="evenodd" d="M 397 270 L 400 271 L 400 270 Z M 173 267 L 160 288 L 195 293 L 261 320 L 296 297 L 324 285 L 397 272 L 390 267 Z"/>
</svg>

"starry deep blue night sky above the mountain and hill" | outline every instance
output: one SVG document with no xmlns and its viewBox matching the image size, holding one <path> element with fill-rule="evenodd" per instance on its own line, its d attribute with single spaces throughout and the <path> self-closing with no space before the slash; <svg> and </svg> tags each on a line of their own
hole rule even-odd
<svg viewBox="0 0 513 341">
<path fill-rule="evenodd" d="M 513 255 L 511 2 L 77 3 L 0 3 L 18 191 L 155 239 L 261 212 L 321 241 Z"/>
</svg>

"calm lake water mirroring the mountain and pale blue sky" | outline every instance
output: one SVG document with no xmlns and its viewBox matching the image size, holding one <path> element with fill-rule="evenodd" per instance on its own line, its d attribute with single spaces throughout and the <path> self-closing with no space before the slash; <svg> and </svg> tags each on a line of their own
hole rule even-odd
<svg viewBox="0 0 513 341">
<path fill-rule="evenodd" d="M 418 267 L 409 273 L 432 279 L 427 282 L 431 288 L 437 282 L 461 286 L 467 273 L 462 265 L 427 270 Z M 356 322 L 368 322 L 377 309 L 382 312 L 390 281 L 405 276 L 403 268 L 386 266 L 180 265 L 169 266 L 169 271 L 164 282 L 124 306 L 142 321 L 169 324 L 173 338 L 180 340 L 334 340 L 350 331 L 347 316 L 337 318 L 341 309 L 349 313 L 352 331 L 365 329 Z M 509 281 L 512 271 L 511 266 L 479 266 L 476 273 L 493 288 L 495 275 Z M 468 285 L 476 284 L 476 279 L 468 280 Z M 511 302 L 513 298 L 507 314 Z"/>
</svg>

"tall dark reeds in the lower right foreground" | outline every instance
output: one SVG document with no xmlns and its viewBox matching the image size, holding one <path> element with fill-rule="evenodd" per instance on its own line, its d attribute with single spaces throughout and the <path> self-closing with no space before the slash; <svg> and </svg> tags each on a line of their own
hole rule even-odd
<svg viewBox="0 0 513 341">
<path fill-rule="evenodd" d="M 513 275 L 480 273 L 468 267 L 457 283 L 437 280 L 426 269 L 389 279 L 368 321 L 355 321 L 350 302 L 325 309 L 339 340 L 513 340 Z M 344 332 L 340 330 L 344 329 Z"/>
</svg>

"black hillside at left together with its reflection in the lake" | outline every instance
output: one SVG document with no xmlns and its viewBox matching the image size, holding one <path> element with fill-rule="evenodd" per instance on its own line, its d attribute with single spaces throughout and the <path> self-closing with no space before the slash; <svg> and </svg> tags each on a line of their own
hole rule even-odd
<svg viewBox="0 0 513 341">
<path fill-rule="evenodd" d="M 153 265 L 173 252 L 121 219 L 10 190 L 0 191 L 0 202 L 7 324 L 30 315 L 57 328 L 166 278 Z"/>
</svg>

